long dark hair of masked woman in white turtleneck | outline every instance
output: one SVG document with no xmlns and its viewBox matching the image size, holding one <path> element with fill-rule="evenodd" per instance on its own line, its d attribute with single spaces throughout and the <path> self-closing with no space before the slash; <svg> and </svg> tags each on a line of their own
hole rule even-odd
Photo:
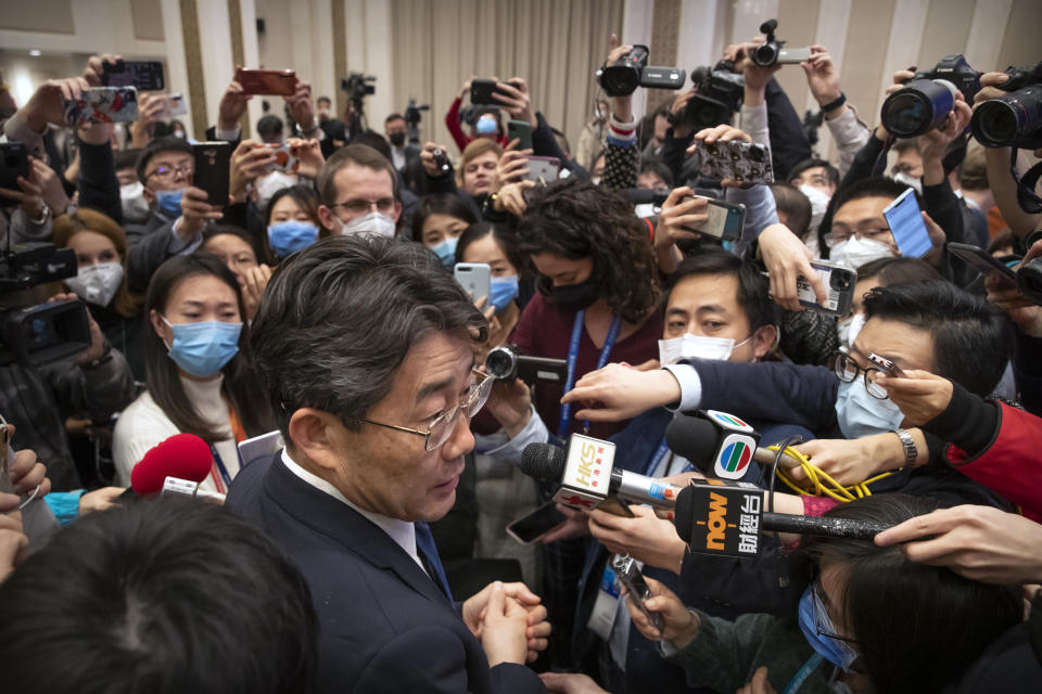
<svg viewBox="0 0 1042 694">
<path fill-rule="evenodd" d="M 237 233 L 234 228 L 230 229 L 232 230 L 220 233 Z M 247 436 L 259 436 L 270 432 L 272 417 L 267 408 L 267 401 L 260 397 L 260 389 L 250 367 L 250 323 L 246 321 L 242 291 L 239 288 L 236 275 L 220 261 L 220 258 L 200 252 L 190 256 L 174 256 L 161 265 L 149 282 L 149 292 L 144 299 L 144 317 L 148 320 L 153 309 L 161 316 L 165 314 L 166 303 L 175 287 L 181 282 L 191 282 L 194 277 L 215 277 L 236 293 L 239 316 L 242 319 L 242 332 L 239 335 L 238 354 L 220 370 L 225 375 L 221 390 L 241 417 Z M 177 364 L 169 357 L 169 348 L 151 324 L 147 325 L 143 339 L 149 395 L 163 413 L 178 430 L 194 434 L 207 444 L 227 438 L 227 432 L 215 428 L 195 410 L 181 385 Z"/>
</svg>

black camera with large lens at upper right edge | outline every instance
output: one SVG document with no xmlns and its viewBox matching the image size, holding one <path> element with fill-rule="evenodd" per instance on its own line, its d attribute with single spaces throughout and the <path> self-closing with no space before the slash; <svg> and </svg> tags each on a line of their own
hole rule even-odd
<svg viewBox="0 0 1042 694">
<path fill-rule="evenodd" d="M 1032 69 L 1006 68 L 996 85 L 1006 93 L 978 104 L 969 129 L 986 147 L 1042 147 L 1042 63 Z"/>
</svg>

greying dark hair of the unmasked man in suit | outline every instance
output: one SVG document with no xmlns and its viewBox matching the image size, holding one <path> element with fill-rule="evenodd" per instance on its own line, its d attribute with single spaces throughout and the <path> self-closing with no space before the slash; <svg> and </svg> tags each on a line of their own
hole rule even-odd
<svg viewBox="0 0 1042 694">
<path fill-rule="evenodd" d="M 333 236 L 276 270 L 252 325 L 254 369 L 282 436 L 301 408 L 350 430 L 432 333 L 484 342 L 487 323 L 452 273 L 411 241 Z"/>
</svg>

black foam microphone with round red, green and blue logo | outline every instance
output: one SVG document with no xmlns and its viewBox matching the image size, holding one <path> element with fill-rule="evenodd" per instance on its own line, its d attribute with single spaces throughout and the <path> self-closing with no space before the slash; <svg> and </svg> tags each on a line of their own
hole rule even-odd
<svg viewBox="0 0 1042 694">
<path fill-rule="evenodd" d="M 776 454 L 766 448 L 758 448 L 760 434 L 746 422 L 717 410 L 677 414 L 665 428 L 665 445 L 703 475 L 721 479 L 741 479 L 752 461 L 773 465 Z M 791 470 L 799 467 L 800 461 L 782 453 L 778 465 Z"/>
</svg>

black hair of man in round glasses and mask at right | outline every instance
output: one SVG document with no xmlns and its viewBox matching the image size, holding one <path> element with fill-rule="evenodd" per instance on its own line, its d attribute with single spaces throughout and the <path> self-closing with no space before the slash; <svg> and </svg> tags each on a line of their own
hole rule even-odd
<svg viewBox="0 0 1042 694">
<path fill-rule="evenodd" d="M 944 280 L 876 287 L 865 295 L 865 319 L 871 318 L 928 331 L 933 373 L 982 398 L 999 384 L 1013 351 L 1006 314 Z"/>
</svg>

